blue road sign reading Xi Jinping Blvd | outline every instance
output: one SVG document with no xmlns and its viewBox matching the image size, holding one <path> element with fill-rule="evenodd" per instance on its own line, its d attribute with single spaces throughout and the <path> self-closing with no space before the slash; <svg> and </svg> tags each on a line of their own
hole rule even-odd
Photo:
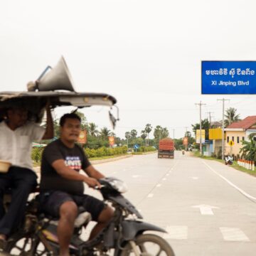
<svg viewBox="0 0 256 256">
<path fill-rule="evenodd" d="M 202 94 L 256 94 L 256 61 L 202 61 Z"/>
</svg>

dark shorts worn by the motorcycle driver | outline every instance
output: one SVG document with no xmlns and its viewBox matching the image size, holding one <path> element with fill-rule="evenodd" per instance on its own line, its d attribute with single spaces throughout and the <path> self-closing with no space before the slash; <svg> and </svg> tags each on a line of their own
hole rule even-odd
<svg viewBox="0 0 256 256">
<path fill-rule="evenodd" d="M 97 221 L 100 213 L 105 208 L 105 203 L 88 195 L 71 195 L 63 191 L 49 191 L 41 194 L 41 210 L 55 218 L 60 217 L 60 206 L 68 201 L 73 201 L 82 206 L 92 215 L 92 220 Z"/>
</svg>

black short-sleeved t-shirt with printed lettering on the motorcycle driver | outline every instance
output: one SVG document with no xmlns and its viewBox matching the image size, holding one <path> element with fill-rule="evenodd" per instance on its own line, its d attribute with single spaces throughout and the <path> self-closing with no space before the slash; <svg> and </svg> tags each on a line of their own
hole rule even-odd
<svg viewBox="0 0 256 256">
<path fill-rule="evenodd" d="M 66 166 L 69 166 L 75 171 L 86 169 L 90 166 L 85 156 L 84 151 L 80 146 L 75 146 L 70 149 L 60 139 L 51 142 L 43 151 L 41 164 L 41 191 L 65 191 L 72 194 L 82 194 L 84 185 L 82 181 L 73 181 L 63 178 L 55 171 L 52 164 L 54 161 L 63 159 Z"/>
</svg>

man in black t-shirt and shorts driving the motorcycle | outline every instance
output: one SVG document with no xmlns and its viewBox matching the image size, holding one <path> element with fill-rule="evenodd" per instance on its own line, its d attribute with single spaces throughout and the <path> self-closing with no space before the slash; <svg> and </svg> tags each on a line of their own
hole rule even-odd
<svg viewBox="0 0 256 256">
<path fill-rule="evenodd" d="M 77 114 L 64 114 L 60 118 L 60 139 L 51 142 L 43 151 L 41 164 L 42 208 L 46 213 L 59 217 L 58 240 L 60 256 L 68 256 L 78 206 L 83 206 L 97 221 L 90 238 L 94 238 L 113 216 L 110 206 L 84 195 L 83 183 L 91 188 L 100 187 L 97 181 L 104 176 L 87 160 L 84 151 L 75 144 L 80 134 L 81 119 Z M 80 169 L 87 176 L 79 174 Z"/>
</svg>

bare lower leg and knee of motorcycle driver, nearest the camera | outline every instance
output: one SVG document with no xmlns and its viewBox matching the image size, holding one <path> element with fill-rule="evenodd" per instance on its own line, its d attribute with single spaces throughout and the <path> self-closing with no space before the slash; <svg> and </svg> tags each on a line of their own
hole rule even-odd
<svg viewBox="0 0 256 256">
<path fill-rule="evenodd" d="M 70 240 L 74 231 L 75 218 L 78 216 L 78 206 L 72 201 L 67 201 L 60 206 L 60 220 L 58 222 L 58 240 L 60 256 L 69 256 Z"/>
</svg>

